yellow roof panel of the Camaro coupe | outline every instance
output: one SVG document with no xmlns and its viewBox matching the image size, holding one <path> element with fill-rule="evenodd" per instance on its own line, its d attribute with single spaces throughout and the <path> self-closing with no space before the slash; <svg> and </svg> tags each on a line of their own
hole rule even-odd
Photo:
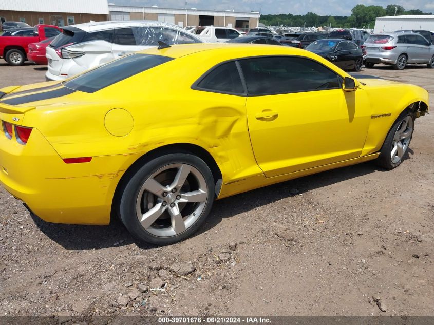
<svg viewBox="0 0 434 325">
<path fill-rule="evenodd" d="M 246 36 L 243 36 L 246 37 Z M 180 44 L 159 50 L 158 48 L 146 49 L 137 53 L 164 55 L 171 58 L 181 58 L 199 52 L 213 51 L 221 52 L 223 56 L 241 58 L 254 55 L 303 55 L 309 56 L 310 52 L 290 46 L 270 46 L 268 44 L 246 44 L 246 43 L 196 43 Z"/>
</svg>

